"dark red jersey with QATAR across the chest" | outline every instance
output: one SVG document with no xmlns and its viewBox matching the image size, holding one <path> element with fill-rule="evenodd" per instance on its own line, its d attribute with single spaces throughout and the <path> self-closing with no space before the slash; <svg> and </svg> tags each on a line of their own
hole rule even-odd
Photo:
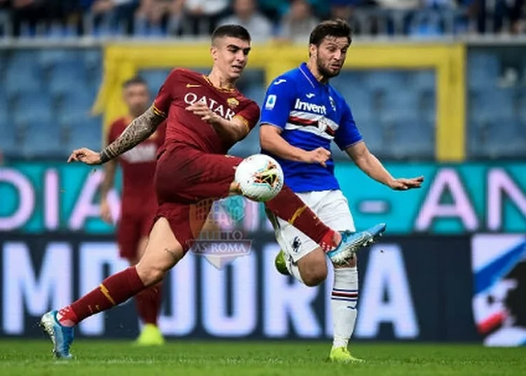
<svg viewBox="0 0 526 376">
<path fill-rule="evenodd" d="M 174 69 L 154 101 L 154 111 L 168 119 L 166 147 L 170 142 L 180 142 L 203 152 L 226 154 L 233 146 L 209 123 L 186 109 L 196 102 L 205 103 L 224 119 L 241 119 L 248 129 L 254 128 L 259 120 L 259 106 L 238 90 L 217 88 L 206 76 L 189 69 Z"/>
</svg>

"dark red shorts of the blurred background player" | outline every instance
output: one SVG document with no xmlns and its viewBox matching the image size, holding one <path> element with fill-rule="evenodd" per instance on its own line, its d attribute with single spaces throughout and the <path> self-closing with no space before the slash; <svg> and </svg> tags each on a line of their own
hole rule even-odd
<svg viewBox="0 0 526 376">
<path fill-rule="evenodd" d="M 119 255 L 128 260 L 137 257 L 141 239 L 147 237 L 154 222 L 157 206 L 151 206 L 150 210 L 127 210 L 121 213 L 117 224 L 117 245 Z"/>
</svg>

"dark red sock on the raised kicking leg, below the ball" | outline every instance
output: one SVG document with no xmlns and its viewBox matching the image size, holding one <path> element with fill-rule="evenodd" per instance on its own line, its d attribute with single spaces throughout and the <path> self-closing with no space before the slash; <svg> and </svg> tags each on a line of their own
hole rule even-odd
<svg viewBox="0 0 526 376">
<path fill-rule="evenodd" d="M 265 206 L 274 215 L 289 222 L 313 241 L 316 241 L 325 252 L 338 246 L 333 239 L 335 231 L 321 222 L 309 206 L 306 206 L 306 203 L 286 185 L 283 185 L 278 196 L 267 201 Z"/>
</svg>

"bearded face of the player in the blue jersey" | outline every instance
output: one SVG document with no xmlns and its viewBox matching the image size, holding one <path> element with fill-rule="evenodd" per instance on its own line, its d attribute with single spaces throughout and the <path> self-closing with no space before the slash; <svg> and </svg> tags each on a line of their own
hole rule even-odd
<svg viewBox="0 0 526 376">
<path fill-rule="evenodd" d="M 316 59 L 318 72 L 330 79 L 342 70 L 349 41 L 345 36 L 325 36 L 320 46 L 311 48 L 311 57 Z"/>
</svg>

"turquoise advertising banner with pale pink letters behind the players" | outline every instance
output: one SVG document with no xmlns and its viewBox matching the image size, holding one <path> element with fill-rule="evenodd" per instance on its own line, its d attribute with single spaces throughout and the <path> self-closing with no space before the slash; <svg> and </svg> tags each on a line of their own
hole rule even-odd
<svg viewBox="0 0 526 376">
<path fill-rule="evenodd" d="M 389 234 L 465 234 L 481 231 L 523 234 L 526 229 L 526 163 L 470 162 L 461 164 L 386 163 L 396 176 L 424 175 L 415 192 L 393 192 L 371 180 L 351 163 L 341 162 L 336 174 L 358 229 L 377 222 L 389 224 Z M 119 179 L 118 179 L 119 181 Z M 25 234 L 82 231 L 109 234 L 100 220 L 102 168 L 64 162 L 6 163 L 0 167 L 0 229 Z M 110 202 L 119 215 L 119 191 Z M 228 200 L 227 200 L 228 201 Z M 245 231 L 269 232 L 262 205 L 250 212 Z"/>
</svg>

